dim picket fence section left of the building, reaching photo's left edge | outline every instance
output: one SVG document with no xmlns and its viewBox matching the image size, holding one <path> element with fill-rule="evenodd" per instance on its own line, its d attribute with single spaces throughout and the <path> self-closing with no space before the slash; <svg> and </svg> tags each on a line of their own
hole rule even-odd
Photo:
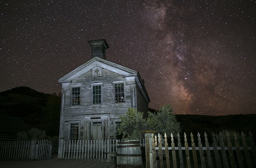
<svg viewBox="0 0 256 168">
<path fill-rule="evenodd" d="M 0 141 L 0 159 L 51 159 L 50 140 Z"/>
</svg>

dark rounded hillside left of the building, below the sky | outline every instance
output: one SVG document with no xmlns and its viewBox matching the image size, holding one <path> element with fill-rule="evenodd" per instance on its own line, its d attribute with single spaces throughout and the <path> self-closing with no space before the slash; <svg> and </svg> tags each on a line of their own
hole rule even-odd
<svg viewBox="0 0 256 168">
<path fill-rule="evenodd" d="M 20 117 L 29 128 L 45 130 L 48 136 L 59 134 L 60 104 L 60 96 L 45 94 L 28 87 L 0 92 L 0 116 Z M 51 121 L 54 123 L 49 124 Z M 57 131 L 53 130 L 53 126 L 57 127 Z"/>
</svg>

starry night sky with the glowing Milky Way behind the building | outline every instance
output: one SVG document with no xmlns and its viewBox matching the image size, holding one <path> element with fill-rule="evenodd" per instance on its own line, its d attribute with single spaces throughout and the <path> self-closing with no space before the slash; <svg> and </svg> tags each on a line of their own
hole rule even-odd
<svg viewBox="0 0 256 168">
<path fill-rule="evenodd" d="M 176 114 L 256 113 L 256 3 L 251 0 L 4 0 L 0 92 L 59 93 L 57 79 L 91 59 L 140 72 L 150 108 Z"/>
</svg>

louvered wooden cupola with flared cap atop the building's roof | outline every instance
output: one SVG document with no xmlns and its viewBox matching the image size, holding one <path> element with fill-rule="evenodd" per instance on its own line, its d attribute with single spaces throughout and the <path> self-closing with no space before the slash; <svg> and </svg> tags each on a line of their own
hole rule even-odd
<svg viewBox="0 0 256 168">
<path fill-rule="evenodd" d="M 105 39 L 88 41 L 92 47 L 92 58 L 100 57 L 106 60 L 106 49 L 109 48 Z"/>
</svg>

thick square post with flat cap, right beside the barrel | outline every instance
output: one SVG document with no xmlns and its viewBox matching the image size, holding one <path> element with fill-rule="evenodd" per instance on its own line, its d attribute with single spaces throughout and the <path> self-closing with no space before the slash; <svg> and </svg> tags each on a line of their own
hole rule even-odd
<svg viewBox="0 0 256 168">
<path fill-rule="evenodd" d="M 146 139 L 146 168 L 153 168 L 153 154 L 152 154 L 152 133 L 156 133 L 156 131 L 142 131 L 145 133 Z M 149 159 L 149 160 L 148 160 Z"/>
</svg>

